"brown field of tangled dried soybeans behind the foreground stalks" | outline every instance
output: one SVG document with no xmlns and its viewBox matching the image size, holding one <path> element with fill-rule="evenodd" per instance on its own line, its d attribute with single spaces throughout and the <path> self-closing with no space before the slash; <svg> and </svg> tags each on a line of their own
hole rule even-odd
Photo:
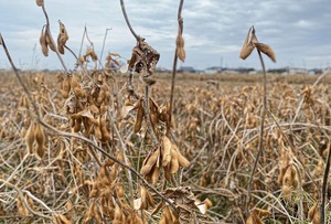
<svg viewBox="0 0 331 224">
<path fill-rule="evenodd" d="M 324 161 L 330 150 L 330 75 L 312 87 L 317 76 L 268 74 L 269 113 L 265 121 L 264 150 L 254 174 L 248 207 L 247 185 L 259 141 L 261 75 L 179 74 L 170 140 L 190 166 L 182 168 L 179 163 L 179 169 L 173 168 L 178 166 L 172 161 L 173 156 L 169 164 L 169 169 L 174 169 L 173 175 L 167 174 L 169 170 L 164 167 L 156 181 L 141 169 L 148 163 L 143 160 L 157 149 L 151 148 L 152 139 L 145 120 L 137 134 L 134 131 L 137 109 L 129 109 L 139 100 L 130 98 L 128 102 L 126 77 L 104 77 L 111 93 L 108 116 L 107 113 L 106 116 L 88 115 L 99 119 L 97 124 L 106 124 L 109 134 L 106 139 L 104 132 L 98 137 L 96 126 L 87 132 L 87 126 L 81 121 L 82 127 L 76 128 L 73 122 L 79 118 L 75 116 L 82 113 L 70 111 L 71 105 L 63 97 L 55 74 L 25 72 L 21 76 L 45 122 L 58 132 L 41 126 L 44 139 L 39 143 L 36 138 L 29 153 L 29 127 L 38 124 L 35 111 L 15 76 L 2 72 L 0 223 L 120 223 L 115 222 L 117 220 L 125 223 L 124 218 L 134 220 L 130 216 L 137 216 L 136 223 L 161 223 L 167 212 L 168 216 L 174 215 L 164 204 L 152 215 L 151 205 L 161 201 L 156 192 L 141 188 L 143 184 L 137 175 L 92 145 L 63 132 L 85 136 L 119 161 L 142 172 L 156 190 L 175 202 L 181 218 L 186 215 L 192 220 L 190 215 L 194 215 L 199 223 L 245 223 L 247 218 L 261 218 L 264 223 L 308 223 L 318 218 L 320 207 L 314 205 L 321 200 Z M 83 86 L 84 77 L 75 76 Z M 150 97 L 157 104 L 159 120 L 153 127 L 157 138 L 163 142 L 160 150 L 166 150 L 166 125 L 160 111 L 167 108 L 171 78 L 166 74 L 156 74 L 154 78 L 157 83 Z M 142 96 L 141 82 L 136 78 L 134 85 Z M 124 117 L 125 110 L 128 114 Z M 83 116 L 88 118 L 86 114 Z M 327 189 L 330 196 L 330 181 Z M 132 199 L 141 199 L 142 204 L 135 207 Z M 206 214 L 192 205 L 194 199 L 209 199 L 212 206 L 204 201 L 209 207 Z M 327 218 L 331 222 L 329 204 L 327 200 Z"/>
</svg>

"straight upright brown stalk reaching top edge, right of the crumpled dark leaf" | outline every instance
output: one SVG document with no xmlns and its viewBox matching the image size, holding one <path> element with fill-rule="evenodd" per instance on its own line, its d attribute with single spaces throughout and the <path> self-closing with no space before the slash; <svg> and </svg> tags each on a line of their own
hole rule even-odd
<svg viewBox="0 0 331 224">
<path fill-rule="evenodd" d="M 178 26 L 179 26 L 179 35 L 183 33 L 183 18 L 182 18 L 182 9 L 183 9 L 184 0 L 180 1 L 179 9 L 178 9 Z M 170 93 L 170 105 L 169 105 L 169 124 L 167 126 L 167 135 L 170 135 L 170 127 L 171 127 L 171 116 L 172 116 L 172 104 L 173 104 L 173 92 L 175 85 L 175 73 L 177 73 L 177 63 L 178 63 L 178 46 L 174 50 L 173 56 L 173 65 L 172 65 L 172 78 L 171 78 L 171 93 Z"/>
</svg>

